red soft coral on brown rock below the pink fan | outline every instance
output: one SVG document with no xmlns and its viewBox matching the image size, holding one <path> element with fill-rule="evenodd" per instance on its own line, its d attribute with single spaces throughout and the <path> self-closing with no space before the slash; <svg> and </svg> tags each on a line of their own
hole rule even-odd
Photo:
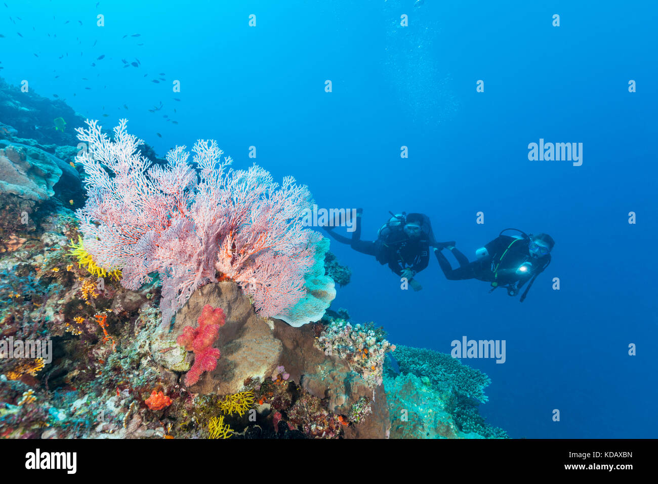
<svg viewBox="0 0 658 484">
<path fill-rule="evenodd" d="M 210 304 L 206 304 L 197 322 L 199 327 L 184 327 L 183 334 L 176 340 L 180 346 L 194 352 L 194 363 L 185 375 L 185 384 L 188 386 L 197 383 L 204 371 L 215 369 L 221 354 L 212 346 L 219 335 L 220 326 L 226 323 L 226 315 L 222 308 L 213 308 Z"/>
</svg>

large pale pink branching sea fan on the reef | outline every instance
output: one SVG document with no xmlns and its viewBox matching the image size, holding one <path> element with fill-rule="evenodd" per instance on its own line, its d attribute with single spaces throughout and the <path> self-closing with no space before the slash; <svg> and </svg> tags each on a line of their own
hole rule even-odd
<svg viewBox="0 0 658 484">
<path fill-rule="evenodd" d="M 141 156 L 143 142 L 114 128 L 114 140 L 97 121 L 78 128 L 88 149 L 78 157 L 88 200 L 76 212 L 84 248 L 105 269 L 120 269 L 121 283 L 137 290 L 158 273 L 163 324 L 191 293 L 232 279 L 261 315 L 294 306 L 306 294 L 304 276 L 322 236 L 303 227 L 313 204 L 306 186 L 291 176 L 281 185 L 264 169 L 228 169 L 232 163 L 214 140 L 177 146 L 164 167 Z M 198 176 L 197 176 L 198 175 Z"/>
</svg>

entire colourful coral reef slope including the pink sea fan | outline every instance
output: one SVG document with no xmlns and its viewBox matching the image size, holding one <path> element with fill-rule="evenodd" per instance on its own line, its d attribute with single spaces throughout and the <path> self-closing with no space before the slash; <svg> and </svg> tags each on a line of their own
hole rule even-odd
<svg viewBox="0 0 658 484">
<path fill-rule="evenodd" d="M 82 119 L 6 88 L 2 161 L 26 178 L 0 194 L 0 438 L 505 437 L 478 412 L 486 375 L 331 311 L 349 269 L 297 224 L 305 187 L 231 171 L 214 142 L 197 174 L 124 125 L 90 124 L 80 163 Z M 5 358 L 18 340 L 50 349 Z"/>
</svg>

